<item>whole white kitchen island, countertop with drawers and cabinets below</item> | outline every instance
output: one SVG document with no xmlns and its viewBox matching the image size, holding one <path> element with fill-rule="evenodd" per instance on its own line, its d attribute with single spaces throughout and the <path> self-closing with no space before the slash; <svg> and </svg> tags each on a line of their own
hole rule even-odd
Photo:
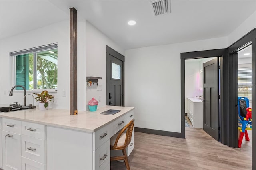
<svg viewBox="0 0 256 170">
<path fill-rule="evenodd" d="M 115 115 L 100 114 L 108 109 L 121 111 Z M 134 119 L 134 107 L 104 106 L 75 116 L 64 109 L 28 109 L 0 113 L 0 118 L 0 167 L 4 170 L 109 170 L 110 138 Z M 16 142 L 21 153 L 5 155 L 12 151 L 6 142 Z M 133 139 L 131 143 L 128 155 L 134 148 Z"/>
</svg>

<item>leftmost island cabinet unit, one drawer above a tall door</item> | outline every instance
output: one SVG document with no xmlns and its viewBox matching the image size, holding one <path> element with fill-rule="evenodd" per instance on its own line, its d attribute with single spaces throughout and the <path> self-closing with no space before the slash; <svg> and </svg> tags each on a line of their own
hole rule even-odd
<svg viewBox="0 0 256 170">
<path fill-rule="evenodd" d="M 21 121 L 13 119 L 2 119 L 2 153 L 4 170 L 21 169 Z"/>
</svg>

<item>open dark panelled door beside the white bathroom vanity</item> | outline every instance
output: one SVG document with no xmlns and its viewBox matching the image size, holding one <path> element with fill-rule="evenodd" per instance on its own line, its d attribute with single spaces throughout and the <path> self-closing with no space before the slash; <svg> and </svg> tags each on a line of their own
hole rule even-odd
<svg viewBox="0 0 256 170">
<path fill-rule="evenodd" d="M 218 58 L 203 63 L 203 129 L 218 140 Z"/>
</svg>

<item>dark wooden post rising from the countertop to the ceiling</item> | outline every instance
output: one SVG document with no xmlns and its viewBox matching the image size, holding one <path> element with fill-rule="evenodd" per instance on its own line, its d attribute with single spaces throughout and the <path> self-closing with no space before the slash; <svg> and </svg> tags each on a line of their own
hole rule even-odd
<svg viewBox="0 0 256 170">
<path fill-rule="evenodd" d="M 70 8 L 70 115 L 77 115 L 77 10 Z"/>
</svg>

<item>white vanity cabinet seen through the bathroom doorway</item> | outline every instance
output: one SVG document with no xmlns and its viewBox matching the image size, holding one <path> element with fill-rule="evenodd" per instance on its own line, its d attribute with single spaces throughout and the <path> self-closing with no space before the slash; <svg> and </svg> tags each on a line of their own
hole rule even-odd
<svg viewBox="0 0 256 170">
<path fill-rule="evenodd" d="M 203 102 L 198 98 L 187 98 L 187 114 L 194 128 L 203 128 Z"/>
</svg>

